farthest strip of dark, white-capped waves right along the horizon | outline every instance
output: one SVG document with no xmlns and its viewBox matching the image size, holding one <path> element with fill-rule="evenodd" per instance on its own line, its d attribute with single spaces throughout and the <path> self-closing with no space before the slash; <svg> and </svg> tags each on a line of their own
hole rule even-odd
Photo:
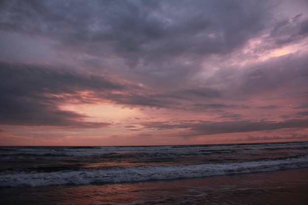
<svg viewBox="0 0 308 205">
<path fill-rule="evenodd" d="M 110 152 L 187 152 L 201 151 L 205 153 L 233 152 L 235 150 L 254 149 L 308 149 L 308 142 L 268 143 L 268 144 L 236 144 L 236 145 L 188 145 L 188 146 L 0 146 L 0 156 L 8 155 L 40 155 L 40 156 L 95 156 Z"/>
</svg>

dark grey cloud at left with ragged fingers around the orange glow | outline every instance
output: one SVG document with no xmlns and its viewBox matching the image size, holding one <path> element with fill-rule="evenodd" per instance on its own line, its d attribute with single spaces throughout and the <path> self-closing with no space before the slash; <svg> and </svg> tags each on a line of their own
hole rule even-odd
<svg viewBox="0 0 308 205">
<path fill-rule="evenodd" d="M 104 127 L 107 122 L 83 121 L 86 115 L 59 108 L 63 102 L 88 102 L 82 91 L 121 90 L 102 76 L 32 65 L 0 63 L 0 123 L 60 127 Z"/>
</svg>

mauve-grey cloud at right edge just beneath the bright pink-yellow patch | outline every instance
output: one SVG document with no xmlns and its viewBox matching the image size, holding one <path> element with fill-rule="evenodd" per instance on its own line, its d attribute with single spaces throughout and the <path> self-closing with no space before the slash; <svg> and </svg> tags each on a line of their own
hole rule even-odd
<svg viewBox="0 0 308 205">
<path fill-rule="evenodd" d="M 239 71 L 234 70 L 235 72 Z M 290 97 L 294 94 L 302 95 L 302 89 L 308 85 L 307 79 L 307 54 L 289 54 L 254 64 L 253 67 L 246 67 L 239 75 L 228 79 L 231 81 L 226 82 L 226 84 L 232 85 L 240 81 L 240 84 L 237 83 L 239 87 L 234 90 L 241 91 L 246 96 L 249 93 L 267 93 L 291 87 L 292 89 L 286 90 L 291 90 L 288 93 Z M 241 93 L 236 94 L 240 95 Z"/>
</svg>

